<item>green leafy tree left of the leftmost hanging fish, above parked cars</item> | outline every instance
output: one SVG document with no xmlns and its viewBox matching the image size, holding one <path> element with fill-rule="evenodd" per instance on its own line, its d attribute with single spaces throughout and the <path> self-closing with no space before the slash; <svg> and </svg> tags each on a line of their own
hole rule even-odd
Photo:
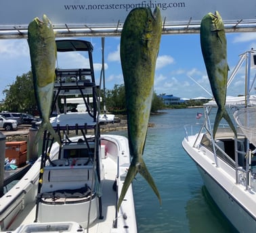
<svg viewBox="0 0 256 233">
<path fill-rule="evenodd" d="M 37 109 L 32 72 L 17 76 L 16 81 L 3 90 L 7 111 L 34 113 Z"/>
</svg>

